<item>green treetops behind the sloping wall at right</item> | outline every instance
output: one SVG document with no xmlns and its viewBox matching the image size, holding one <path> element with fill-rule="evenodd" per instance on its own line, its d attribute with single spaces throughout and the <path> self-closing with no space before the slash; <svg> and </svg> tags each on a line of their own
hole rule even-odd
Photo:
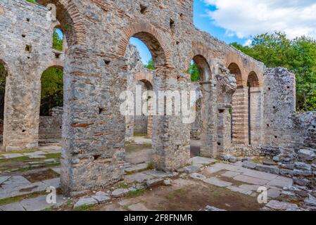
<svg viewBox="0 0 316 225">
<path fill-rule="evenodd" d="M 267 67 L 283 67 L 296 75 L 297 109 L 316 110 L 316 41 L 310 37 L 290 40 L 286 34 L 260 34 L 251 46 L 232 43 L 248 56 L 260 60 Z"/>
</svg>

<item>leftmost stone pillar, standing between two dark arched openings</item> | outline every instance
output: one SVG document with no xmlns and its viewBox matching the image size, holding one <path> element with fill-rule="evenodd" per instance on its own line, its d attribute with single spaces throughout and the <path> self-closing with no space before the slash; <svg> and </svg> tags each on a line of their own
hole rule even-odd
<svg viewBox="0 0 316 225">
<path fill-rule="evenodd" d="M 6 77 L 4 148 L 6 151 L 37 148 L 41 70 L 36 61 L 16 63 Z"/>
</svg>

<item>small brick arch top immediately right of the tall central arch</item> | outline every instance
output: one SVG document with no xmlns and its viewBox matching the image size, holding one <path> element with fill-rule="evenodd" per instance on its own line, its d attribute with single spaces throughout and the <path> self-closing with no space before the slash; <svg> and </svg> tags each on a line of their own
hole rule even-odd
<svg viewBox="0 0 316 225">
<path fill-rule="evenodd" d="M 201 44 L 200 42 L 192 41 L 192 50 L 184 66 L 186 67 L 186 69 L 189 68 L 191 60 L 194 60 L 198 65 L 198 69 L 202 71 L 204 74 L 208 74 L 208 77 L 206 77 L 206 75 L 201 77 L 201 79 L 206 81 L 212 78 L 210 65 L 212 63 L 213 58 L 214 56 L 207 46 Z"/>
</svg>

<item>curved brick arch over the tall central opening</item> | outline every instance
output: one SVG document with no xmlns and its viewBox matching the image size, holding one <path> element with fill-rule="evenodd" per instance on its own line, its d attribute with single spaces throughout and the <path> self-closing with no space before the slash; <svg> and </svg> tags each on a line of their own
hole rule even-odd
<svg viewBox="0 0 316 225">
<path fill-rule="evenodd" d="M 118 56 L 124 56 L 129 39 L 136 37 L 146 44 L 151 51 L 156 67 L 172 68 L 171 54 L 163 40 L 163 33 L 149 23 L 139 22 L 126 27 L 118 44 Z"/>
</svg>

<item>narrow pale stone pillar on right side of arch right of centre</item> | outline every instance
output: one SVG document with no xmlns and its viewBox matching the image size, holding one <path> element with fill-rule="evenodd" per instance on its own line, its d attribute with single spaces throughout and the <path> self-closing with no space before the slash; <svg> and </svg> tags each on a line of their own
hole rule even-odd
<svg viewBox="0 0 316 225">
<path fill-rule="evenodd" d="M 201 156 L 217 157 L 217 91 L 215 80 L 201 82 Z"/>
</svg>

